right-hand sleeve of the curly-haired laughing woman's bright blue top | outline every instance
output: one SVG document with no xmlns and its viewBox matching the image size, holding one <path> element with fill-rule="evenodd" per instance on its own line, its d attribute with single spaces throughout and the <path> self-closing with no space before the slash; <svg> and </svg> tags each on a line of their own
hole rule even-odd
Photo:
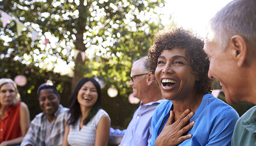
<svg viewBox="0 0 256 146">
<path fill-rule="evenodd" d="M 233 108 L 224 109 L 219 115 L 212 127 L 206 146 L 231 146 L 234 126 L 239 115 Z"/>
</svg>

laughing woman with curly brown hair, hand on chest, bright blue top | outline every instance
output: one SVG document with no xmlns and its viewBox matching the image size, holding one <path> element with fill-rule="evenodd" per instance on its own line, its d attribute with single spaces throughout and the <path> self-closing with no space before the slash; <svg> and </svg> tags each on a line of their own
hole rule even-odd
<svg viewBox="0 0 256 146">
<path fill-rule="evenodd" d="M 151 146 L 231 145 L 237 112 L 211 93 L 204 42 L 183 28 L 160 30 L 148 65 L 162 96 L 152 117 Z"/>
</svg>

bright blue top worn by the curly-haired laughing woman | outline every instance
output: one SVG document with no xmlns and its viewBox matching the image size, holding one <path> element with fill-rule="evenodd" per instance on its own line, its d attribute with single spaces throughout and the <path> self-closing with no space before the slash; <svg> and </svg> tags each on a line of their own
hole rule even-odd
<svg viewBox="0 0 256 146">
<path fill-rule="evenodd" d="M 170 116 L 172 102 L 160 104 L 152 118 L 152 140 L 154 146 L 157 136 L 162 131 Z M 239 116 L 228 104 L 215 98 L 212 94 L 204 95 L 200 106 L 196 109 L 190 122 L 196 121 L 188 131 L 192 138 L 178 146 L 231 146 L 231 137 Z"/>
</svg>

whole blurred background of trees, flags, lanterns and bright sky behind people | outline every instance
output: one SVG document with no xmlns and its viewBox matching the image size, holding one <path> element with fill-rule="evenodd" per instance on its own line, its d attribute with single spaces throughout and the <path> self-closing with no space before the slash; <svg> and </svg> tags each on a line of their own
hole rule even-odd
<svg viewBox="0 0 256 146">
<path fill-rule="evenodd" d="M 40 84 L 54 83 L 68 107 L 77 82 L 95 77 L 112 127 L 124 129 L 139 106 L 130 68 L 147 54 L 154 32 L 183 26 L 204 38 L 208 20 L 229 1 L 0 0 L 0 78 L 15 80 L 33 119 L 41 112 Z M 225 101 L 223 92 L 217 96 Z M 252 106 L 233 107 L 241 116 Z"/>
</svg>

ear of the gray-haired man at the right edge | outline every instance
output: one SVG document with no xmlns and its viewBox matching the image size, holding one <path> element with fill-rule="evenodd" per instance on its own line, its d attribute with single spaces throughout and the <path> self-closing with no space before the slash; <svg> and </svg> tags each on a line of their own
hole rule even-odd
<svg viewBox="0 0 256 146">
<path fill-rule="evenodd" d="M 237 65 L 242 67 L 248 51 L 246 41 L 242 36 L 234 35 L 230 39 L 230 48 L 232 49 L 232 56 L 237 60 Z"/>
</svg>

